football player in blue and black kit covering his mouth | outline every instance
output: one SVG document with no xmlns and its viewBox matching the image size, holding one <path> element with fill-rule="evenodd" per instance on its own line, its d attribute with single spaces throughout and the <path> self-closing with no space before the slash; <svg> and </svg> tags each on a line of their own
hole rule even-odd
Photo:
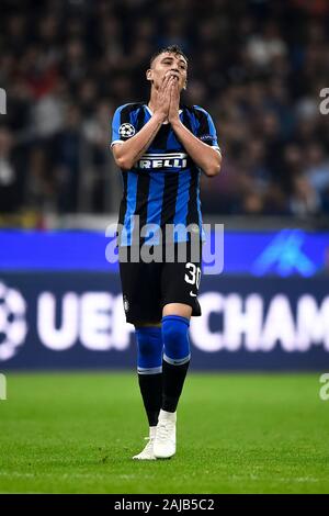
<svg viewBox="0 0 329 516">
<path fill-rule="evenodd" d="M 112 150 L 124 192 L 118 217 L 124 310 L 134 324 L 149 437 L 134 459 L 175 453 L 177 406 L 190 363 L 189 325 L 201 315 L 200 175 L 216 176 L 220 150 L 209 114 L 180 103 L 188 58 L 172 45 L 150 59 L 147 103 L 120 106 Z M 181 253 L 182 251 L 182 253 Z"/>
</svg>

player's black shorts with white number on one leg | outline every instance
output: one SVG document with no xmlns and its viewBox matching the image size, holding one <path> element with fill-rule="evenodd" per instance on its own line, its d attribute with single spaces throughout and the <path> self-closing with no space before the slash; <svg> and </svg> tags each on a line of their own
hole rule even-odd
<svg viewBox="0 0 329 516">
<path fill-rule="evenodd" d="M 192 306 L 193 316 L 201 315 L 196 296 L 201 280 L 202 243 L 198 243 L 196 255 L 195 247 L 192 253 L 190 243 L 170 246 L 169 254 L 164 247 L 160 250 L 160 247 L 151 246 L 150 253 L 158 253 L 157 256 L 162 253 L 162 260 L 150 262 L 140 259 L 138 249 L 135 249 L 135 260 L 139 261 L 134 262 L 132 248 L 121 248 L 123 255 L 127 254 L 124 259 L 120 257 L 120 277 L 127 323 L 159 323 L 162 309 L 168 303 L 188 304 Z M 185 256 L 182 246 L 185 248 Z M 170 254 L 171 257 L 174 256 L 173 262 L 168 259 Z"/>
</svg>

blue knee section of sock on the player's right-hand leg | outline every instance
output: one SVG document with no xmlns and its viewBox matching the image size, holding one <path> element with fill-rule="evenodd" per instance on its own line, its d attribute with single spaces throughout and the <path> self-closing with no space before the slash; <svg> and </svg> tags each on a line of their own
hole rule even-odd
<svg viewBox="0 0 329 516">
<path fill-rule="evenodd" d="M 189 340 L 190 321 L 180 315 L 162 317 L 162 338 L 164 346 L 164 360 L 174 364 L 190 360 Z"/>
</svg>

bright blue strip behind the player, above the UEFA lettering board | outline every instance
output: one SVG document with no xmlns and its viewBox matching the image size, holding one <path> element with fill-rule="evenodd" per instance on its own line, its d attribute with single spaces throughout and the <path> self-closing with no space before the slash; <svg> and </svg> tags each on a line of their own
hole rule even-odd
<svg viewBox="0 0 329 516">
<path fill-rule="evenodd" d="M 101 232 L 0 231 L 0 269 L 117 272 L 105 258 L 110 242 Z M 325 270 L 326 253 L 329 233 L 225 231 L 223 273 L 309 277 Z"/>
</svg>

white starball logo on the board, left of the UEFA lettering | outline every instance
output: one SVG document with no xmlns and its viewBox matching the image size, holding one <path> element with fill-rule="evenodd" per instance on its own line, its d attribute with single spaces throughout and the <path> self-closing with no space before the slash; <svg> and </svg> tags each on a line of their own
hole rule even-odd
<svg viewBox="0 0 329 516">
<path fill-rule="evenodd" d="M 0 361 L 12 358 L 25 340 L 26 303 L 22 294 L 0 282 Z"/>
</svg>

